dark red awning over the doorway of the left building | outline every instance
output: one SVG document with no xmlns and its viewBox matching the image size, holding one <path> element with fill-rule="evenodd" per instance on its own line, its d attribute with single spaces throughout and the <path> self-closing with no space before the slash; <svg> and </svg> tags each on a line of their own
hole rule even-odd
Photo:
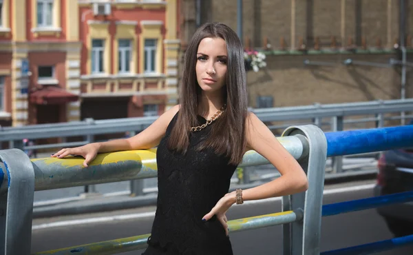
<svg viewBox="0 0 413 255">
<path fill-rule="evenodd" d="M 55 86 L 45 86 L 41 90 L 30 93 L 30 103 L 38 105 L 56 105 L 78 101 L 78 99 L 78 95 Z"/>
</svg>

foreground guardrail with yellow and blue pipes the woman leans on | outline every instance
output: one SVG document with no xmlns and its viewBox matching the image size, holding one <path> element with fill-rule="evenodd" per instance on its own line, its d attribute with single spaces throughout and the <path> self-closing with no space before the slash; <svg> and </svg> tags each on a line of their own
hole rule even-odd
<svg viewBox="0 0 413 255">
<path fill-rule="evenodd" d="M 413 194 L 408 192 L 322 206 L 327 157 L 413 147 L 413 125 L 326 134 L 315 125 L 293 126 L 287 128 L 282 137 L 277 139 L 303 167 L 308 176 L 308 190 L 300 194 L 284 196 L 282 213 L 229 221 L 230 232 L 282 224 L 284 255 L 315 255 L 320 254 L 321 216 L 413 201 Z M 354 143 L 356 140 L 357 143 Z M 30 254 L 35 190 L 153 177 L 156 176 L 155 156 L 156 150 L 99 154 L 89 167 L 84 168 L 83 159 L 78 157 L 30 161 L 21 150 L 0 151 L 0 160 L 3 163 L 0 171 L 0 212 L 3 213 L 0 221 L 0 254 Z M 268 161 L 260 154 L 249 151 L 244 155 L 240 166 L 266 163 Z M 149 234 L 39 252 L 37 255 L 128 252 L 146 247 L 148 236 Z M 383 245 L 383 242 L 387 242 L 388 245 Z M 346 247 L 324 254 L 361 254 L 361 252 L 368 254 L 367 250 L 379 251 L 413 243 L 413 236 L 383 242 L 364 245 L 361 248 Z"/>
</svg>

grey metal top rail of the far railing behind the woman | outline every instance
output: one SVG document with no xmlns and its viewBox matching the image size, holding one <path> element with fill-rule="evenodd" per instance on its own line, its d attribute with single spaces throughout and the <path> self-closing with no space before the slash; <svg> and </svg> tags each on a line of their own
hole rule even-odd
<svg viewBox="0 0 413 255">
<path fill-rule="evenodd" d="M 385 120 L 400 119 L 401 117 L 392 116 L 390 118 L 386 118 L 385 116 L 379 116 L 379 114 L 402 111 L 413 112 L 413 99 L 251 109 L 251 112 L 254 112 L 262 121 L 310 120 L 313 124 L 317 122 L 321 124 L 322 119 L 327 118 L 328 125 L 332 125 L 331 118 L 333 117 L 357 115 L 373 115 L 374 118 L 352 120 L 353 123 L 356 121 L 358 123 L 363 121 L 379 121 L 378 124 L 380 124 Z M 408 118 L 409 116 L 405 117 Z M 158 116 L 107 120 L 85 119 L 85 121 L 76 121 L 74 123 L 27 125 L 18 128 L 3 127 L 0 129 L 0 141 L 15 141 L 16 143 L 19 143 L 22 139 L 32 140 L 50 137 L 62 138 L 70 136 L 139 132 L 151 125 L 151 123 L 153 123 L 156 119 L 158 119 Z M 348 122 L 344 120 L 344 123 Z M 60 145 L 56 147 L 59 146 Z M 23 147 L 19 148 L 22 149 Z"/>
</svg>

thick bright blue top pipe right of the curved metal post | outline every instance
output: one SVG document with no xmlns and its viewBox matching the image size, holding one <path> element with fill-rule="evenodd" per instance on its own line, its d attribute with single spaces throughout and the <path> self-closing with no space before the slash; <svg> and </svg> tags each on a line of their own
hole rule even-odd
<svg viewBox="0 0 413 255">
<path fill-rule="evenodd" d="M 413 147 L 413 125 L 327 132 L 327 156 L 343 156 Z"/>
</svg>

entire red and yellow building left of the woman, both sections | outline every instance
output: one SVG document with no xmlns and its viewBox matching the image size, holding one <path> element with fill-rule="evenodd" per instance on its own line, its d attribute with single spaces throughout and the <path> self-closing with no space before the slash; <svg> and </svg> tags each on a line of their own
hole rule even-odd
<svg viewBox="0 0 413 255">
<path fill-rule="evenodd" d="M 0 0 L 0 125 L 176 104 L 179 0 Z"/>
</svg>

